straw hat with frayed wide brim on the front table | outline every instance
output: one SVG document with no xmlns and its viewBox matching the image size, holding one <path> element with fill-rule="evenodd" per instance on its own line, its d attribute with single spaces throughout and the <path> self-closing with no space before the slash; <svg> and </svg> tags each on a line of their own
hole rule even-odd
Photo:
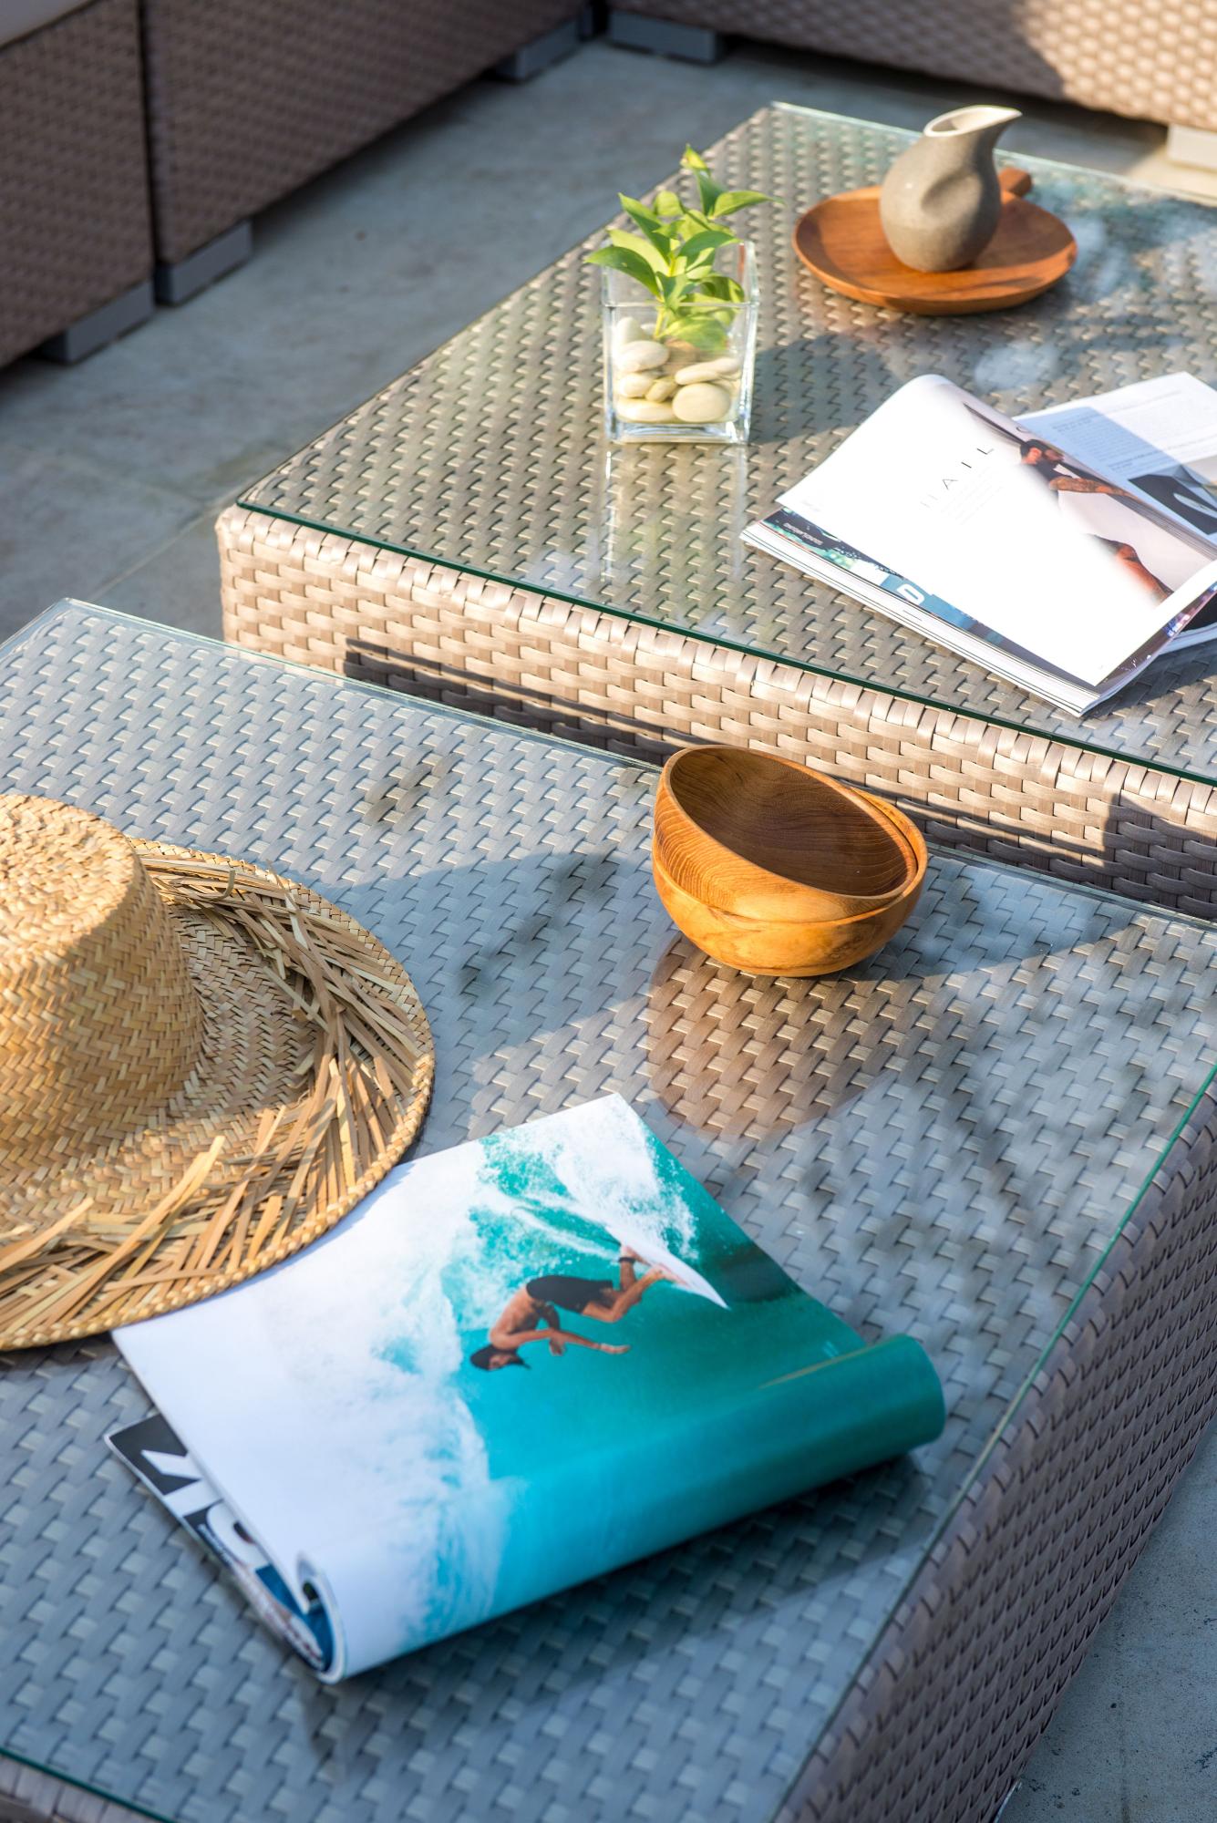
<svg viewBox="0 0 1217 1823">
<path fill-rule="evenodd" d="M 264 868 L 0 795 L 0 1349 L 235 1285 L 423 1119 L 401 964 Z"/>
</svg>

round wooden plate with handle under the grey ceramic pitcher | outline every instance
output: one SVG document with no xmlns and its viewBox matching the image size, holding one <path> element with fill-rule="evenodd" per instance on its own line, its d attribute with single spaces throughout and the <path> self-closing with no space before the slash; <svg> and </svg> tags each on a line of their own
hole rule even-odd
<svg viewBox="0 0 1217 1823">
<path fill-rule="evenodd" d="M 1004 204 L 997 233 L 973 266 L 915 272 L 884 239 L 878 188 L 825 197 L 794 224 L 794 252 L 834 292 L 920 317 L 1006 310 L 1038 297 L 1077 259 L 1077 241 L 1057 217 L 1024 202 L 1026 171 L 1000 171 Z"/>
</svg>

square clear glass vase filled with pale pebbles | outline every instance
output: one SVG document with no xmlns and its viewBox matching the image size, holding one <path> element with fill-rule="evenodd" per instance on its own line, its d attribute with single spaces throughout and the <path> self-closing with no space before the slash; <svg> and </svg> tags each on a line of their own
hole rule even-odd
<svg viewBox="0 0 1217 1823">
<path fill-rule="evenodd" d="M 716 270 L 738 279 L 743 303 L 701 315 L 696 341 L 685 341 L 645 286 L 605 268 L 605 432 L 612 443 L 747 443 L 758 317 L 751 244 L 723 248 Z"/>
</svg>

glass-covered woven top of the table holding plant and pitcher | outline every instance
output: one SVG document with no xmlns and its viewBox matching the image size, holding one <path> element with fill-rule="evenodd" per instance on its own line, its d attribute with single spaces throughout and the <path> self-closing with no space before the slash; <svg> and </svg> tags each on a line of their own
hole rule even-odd
<svg viewBox="0 0 1217 1823">
<path fill-rule="evenodd" d="M 909 139 L 780 106 L 714 148 L 714 170 L 732 186 L 783 199 L 747 217 L 763 301 L 747 450 L 607 454 L 599 273 L 576 250 L 242 503 L 1217 778 L 1212 649 L 1155 664 L 1079 722 L 740 543 L 751 520 L 916 374 L 946 374 L 1009 412 L 1179 368 L 1217 381 L 1213 211 L 1071 166 L 1020 160 L 1080 248 L 1073 273 L 1020 310 L 907 317 L 818 284 L 791 252 L 796 213 L 878 182 Z"/>
</svg>

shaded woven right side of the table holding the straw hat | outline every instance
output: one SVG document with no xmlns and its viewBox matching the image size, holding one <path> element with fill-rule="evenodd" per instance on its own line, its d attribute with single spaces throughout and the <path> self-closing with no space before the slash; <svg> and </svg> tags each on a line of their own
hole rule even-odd
<svg viewBox="0 0 1217 1823">
<path fill-rule="evenodd" d="M 1184 1169 L 1117 1240 L 782 1823 L 997 1816 L 1217 1406 L 1212 1088 L 1181 1145 Z"/>
</svg>

